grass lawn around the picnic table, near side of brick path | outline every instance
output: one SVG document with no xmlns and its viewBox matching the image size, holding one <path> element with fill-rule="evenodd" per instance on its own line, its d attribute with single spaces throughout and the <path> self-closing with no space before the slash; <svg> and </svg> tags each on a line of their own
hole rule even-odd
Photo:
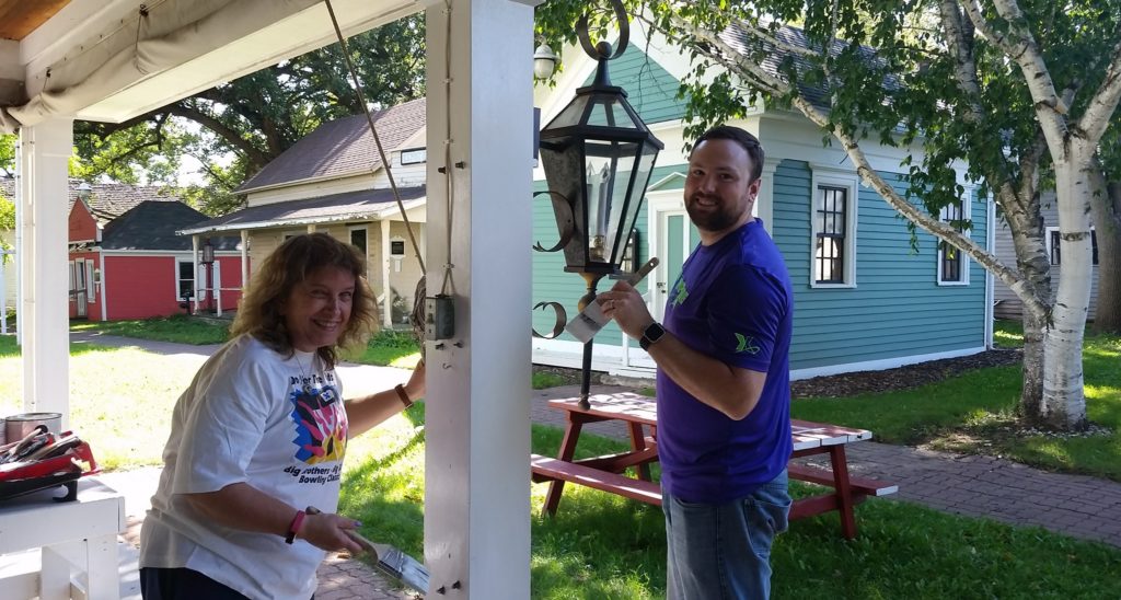
<svg viewBox="0 0 1121 600">
<path fill-rule="evenodd" d="M 423 553 L 423 405 L 352 442 L 341 510 L 363 532 Z M 532 450 L 552 454 L 557 428 L 534 426 Z M 578 456 L 624 450 L 584 435 Z M 665 597 L 665 523 L 658 508 L 567 486 L 555 518 L 540 516 L 547 484 L 531 486 L 531 597 Z M 795 486 L 795 495 L 810 491 Z M 1121 550 L 1039 528 L 955 517 L 906 502 L 856 509 L 860 536 L 835 514 L 791 524 L 772 553 L 775 598 L 1121 598 Z"/>
</svg>

